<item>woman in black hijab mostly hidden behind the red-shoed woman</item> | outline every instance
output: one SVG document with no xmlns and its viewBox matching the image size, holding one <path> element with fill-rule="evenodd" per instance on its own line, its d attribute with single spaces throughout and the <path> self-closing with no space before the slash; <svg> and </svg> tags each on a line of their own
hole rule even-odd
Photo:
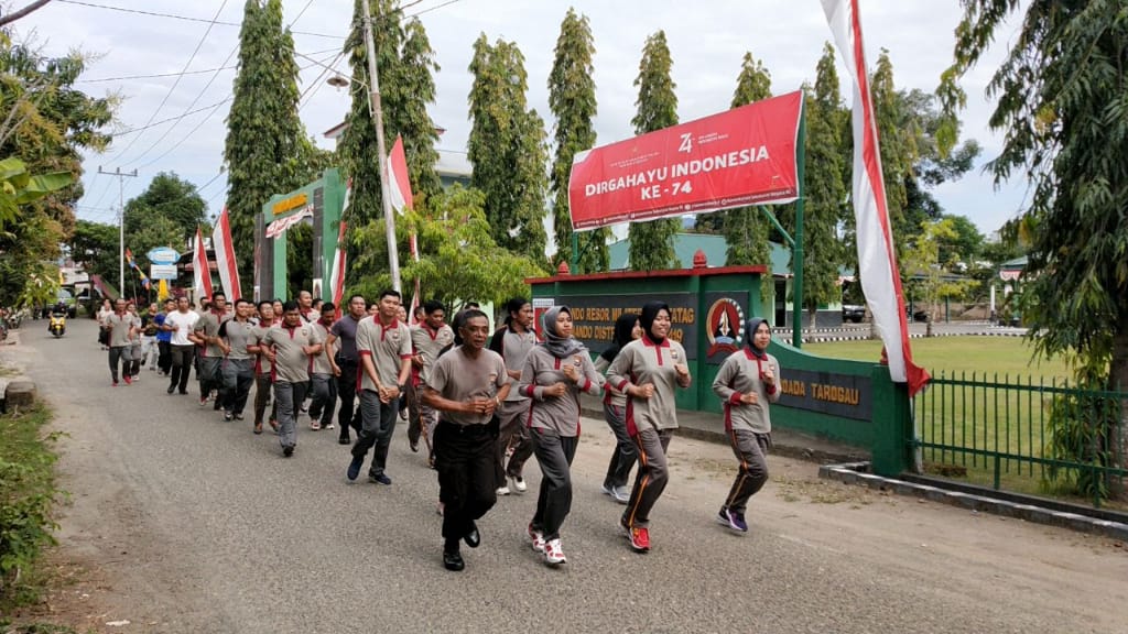
<svg viewBox="0 0 1128 634">
<path fill-rule="evenodd" d="M 638 315 L 635 312 L 619 315 L 619 318 L 615 320 L 611 345 L 596 358 L 596 370 L 601 375 L 605 373 L 623 346 L 641 336 L 642 327 L 638 325 Z M 627 433 L 626 410 L 626 395 L 608 385 L 603 393 L 603 419 L 611 428 L 611 432 L 615 433 L 615 452 L 611 454 L 611 463 L 607 466 L 607 476 L 603 477 L 603 493 L 614 497 L 619 504 L 626 504 L 631 501 L 627 478 L 631 477 L 631 468 L 638 459 L 634 441 Z"/>
</svg>

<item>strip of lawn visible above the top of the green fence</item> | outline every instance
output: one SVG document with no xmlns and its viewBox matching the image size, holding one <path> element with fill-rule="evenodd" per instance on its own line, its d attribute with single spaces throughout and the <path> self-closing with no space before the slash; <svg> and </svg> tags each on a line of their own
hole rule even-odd
<svg viewBox="0 0 1128 634">
<path fill-rule="evenodd" d="M 967 372 L 970 378 L 976 372 L 994 378 L 997 373 L 999 379 L 1007 375 L 1012 380 L 1022 377 L 1023 382 L 1030 377 L 1036 384 L 1040 378 L 1047 384 L 1054 379 L 1060 384 L 1069 377 L 1060 360 L 1034 360 L 1033 347 L 1022 337 L 931 337 L 910 340 L 910 345 L 917 366 L 935 376 Z M 805 343 L 803 350 L 834 359 L 872 361 L 881 356 L 881 342 Z"/>
</svg>

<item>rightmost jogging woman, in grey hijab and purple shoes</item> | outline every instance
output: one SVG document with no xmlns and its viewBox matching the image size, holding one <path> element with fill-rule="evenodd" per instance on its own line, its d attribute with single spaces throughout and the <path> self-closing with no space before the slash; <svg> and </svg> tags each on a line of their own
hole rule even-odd
<svg viewBox="0 0 1128 634">
<path fill-rule="evenodd" d="M 768 354 L 772 328 L 759 317 L 748 320 L 747 345 L 729 355 L 713 381 L 713 391 L 724 404 L 724 431 L 740 460 L 737 481 L 717 513 L 717 521 L 739 532 L 748 531 L 748 500 L 768 479 L 764 456 L 772 448 L 768 404 L 779 400 L 779 362 Z"/>
</svg>

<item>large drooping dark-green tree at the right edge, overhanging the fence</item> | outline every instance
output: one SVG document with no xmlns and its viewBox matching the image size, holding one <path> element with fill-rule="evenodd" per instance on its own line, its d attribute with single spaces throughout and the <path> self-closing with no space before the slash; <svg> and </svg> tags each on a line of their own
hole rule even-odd
<svg viewBox="0 0 1128 634">
<path fill-rule="evenodd" d="M 940 89 L 949 122 L 964 100 L 955 81 L 1004 20 L 1024 11 L 988 85 L 990 124 L 1004 138 L 988 167 L 996 182 L 1019 176 L 1033 187 L 1023 212 L 1031 229 L 1022 290 L 1029 337 L 1039 354 L 1074 361 L 1079 380 L 1128 393 L 1128 5 L 963 6 L 955 61 Z M 1087 458 L 1125 467 L 1128 407 L 1121 402 L 1108 426 L 1093 424 L 1086 435 L 1099 440 Z M 1126 494 L 1123 478 L 1107 479 L 1113 494 Z"/>
</svg>

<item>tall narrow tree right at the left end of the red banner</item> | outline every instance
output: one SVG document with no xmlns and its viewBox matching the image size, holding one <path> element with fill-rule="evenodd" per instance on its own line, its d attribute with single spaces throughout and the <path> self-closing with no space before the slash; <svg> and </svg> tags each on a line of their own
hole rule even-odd
<svg viewBox="0 0 1128 634">
<path fill-rule="evenodd" d="M 596 69 L 591 62 L 594 54 L 596 43 L 588 16 L 579 16 L 574 9 L 569 9 L 561 23 L 556 59 L 548 73 L 548 107 L 556 117 L 556 157 L 552 171 L 553 226 L 556 234 L 554 264 L 571 262 L 572 222 L 569 215 L 567 186 L 572 174 L 572 158 L 576 152 L 596 144 L 596 126 L 592 124 L 597 109 Z M 601 227 L 585 234 L 578 240 L 580 259 L 573 273 L 607 271 L 610 266 L 607 248 L 610 230 Z"/>
</svg>

